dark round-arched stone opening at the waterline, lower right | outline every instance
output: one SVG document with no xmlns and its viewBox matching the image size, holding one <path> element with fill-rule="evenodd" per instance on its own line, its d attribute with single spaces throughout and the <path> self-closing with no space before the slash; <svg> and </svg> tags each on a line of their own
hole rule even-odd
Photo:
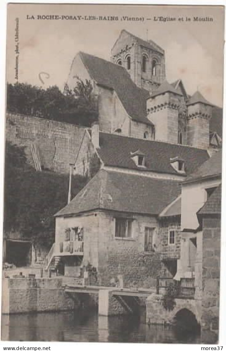
<svg viewBox="0 0 226 351">
<path fill-rule="evenodd" d="M 173 331 L 178 340 L 189 342 L 194 336 L 200 335 L 200 324 L 191 310 L 183 308 L 173 318 Z"/>
</svg>

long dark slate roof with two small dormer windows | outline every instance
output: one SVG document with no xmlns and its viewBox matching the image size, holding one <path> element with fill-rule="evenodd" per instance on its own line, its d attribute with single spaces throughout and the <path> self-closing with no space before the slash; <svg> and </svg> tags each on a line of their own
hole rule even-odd
<svg viewBox="0 0 226 351">
<path fill-rule="evenodd" d="M 131 158 L 131 152 L 137 150 L 145 155 L 146 168 L 142 171 L 178 174 L 170 159 L 179 157 L 185 161 L 186 174 L 191 174 L 209 158 L 206 150 L 195 147 L 100 132 L 98 154 L 105 166 L 138 170 Z"/>
</svg>

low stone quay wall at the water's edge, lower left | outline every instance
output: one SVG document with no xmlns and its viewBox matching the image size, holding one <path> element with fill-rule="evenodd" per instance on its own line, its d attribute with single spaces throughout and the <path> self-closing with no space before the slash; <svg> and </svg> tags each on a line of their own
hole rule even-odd
<svg viewBox="0 0 226 351">
<path fill-rule="evenodd" d="M 2 313 L 67 311 L 79 299 L 64 292 L 60 278 L 6 278 L 2 280 Z"/>
</svg>

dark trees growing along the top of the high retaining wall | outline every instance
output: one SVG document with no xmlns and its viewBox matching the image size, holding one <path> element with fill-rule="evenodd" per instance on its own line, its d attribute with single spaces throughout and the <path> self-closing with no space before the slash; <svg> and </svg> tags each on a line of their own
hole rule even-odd
<svg viewBox="0 0 226 351">
<path fill-rule="evenodd" d="M 34 117 L 53 119 L 71 124 L 91 126 L 98 120 L 97 101 L 90 80 L 64 92 L 57 86 L 47 89 L 26 83 L 7 84 L 7 111 Z"/>
</svg>

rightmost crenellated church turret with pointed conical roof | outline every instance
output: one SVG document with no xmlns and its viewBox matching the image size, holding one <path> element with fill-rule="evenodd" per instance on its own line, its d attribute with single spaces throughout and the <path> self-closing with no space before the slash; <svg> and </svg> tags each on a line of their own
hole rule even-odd
<svg viewBox="0 0 226 351">
<path fill-rule="evenodd" d="M 187 144 L 207 149 L 210 146 L 212 105 L 197 91 L 187 102 Z"/>
</svg>

